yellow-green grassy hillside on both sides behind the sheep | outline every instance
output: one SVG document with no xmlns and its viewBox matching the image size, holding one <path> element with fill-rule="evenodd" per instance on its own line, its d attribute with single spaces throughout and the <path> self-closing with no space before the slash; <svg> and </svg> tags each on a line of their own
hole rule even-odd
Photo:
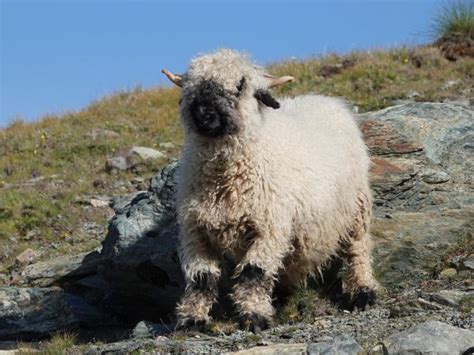
<svg viewBox="0 0 474 355">
<path fill-rule="evenodd" d="M 474 87 L 474 61 L 449 61 L 434 47 L 289 60 L 268 70 L 296 78 L 296 83 L 279 88 L 280 95 L 339 96 L 360 112 L 406 98 L 467 99 Z M 177 156 L 182 142 L 178 98 L 177 89 L 136 89 L 103 98 L 80 112 L 46 116 L 36 123 L 15 122 L 1 130 L 0 273 L 26 248 L 49 258 L 98 246 L 113 212 L 91 206 L 90 199 L 142 189 L 137 178 L 146 182 Z M 175 146 L 167 148 L 167 159 L 141 162 L 130 171 L 105 169 L 107 157 L 120 149 L 138 145 L 161 150 L 164 142 Z"/>
</svg>

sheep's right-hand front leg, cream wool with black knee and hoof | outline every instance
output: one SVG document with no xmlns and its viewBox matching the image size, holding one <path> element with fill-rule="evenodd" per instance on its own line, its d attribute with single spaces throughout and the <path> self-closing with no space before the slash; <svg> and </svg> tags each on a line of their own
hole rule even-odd
<svg viewBox="0 0 474 355">
<path fill-rule="evenodd" d="M 231 297 L 242 328 L 254 332 L 268 328 L 274 314 L 271 297 L 274 282 L 289 244 L 284 238 L 257 235 L 237 265 Z"/>
</svg>

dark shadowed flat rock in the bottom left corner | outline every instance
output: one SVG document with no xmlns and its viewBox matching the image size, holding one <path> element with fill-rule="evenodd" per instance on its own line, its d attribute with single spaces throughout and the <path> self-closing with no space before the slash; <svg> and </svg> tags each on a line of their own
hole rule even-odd
<svg viewBox="0 0 474 355">
<path fill-rule="evenodd" d="M 0 340 L 41 337 L 78 324 L 59 287 L 0 288 Z"/>
</svg>

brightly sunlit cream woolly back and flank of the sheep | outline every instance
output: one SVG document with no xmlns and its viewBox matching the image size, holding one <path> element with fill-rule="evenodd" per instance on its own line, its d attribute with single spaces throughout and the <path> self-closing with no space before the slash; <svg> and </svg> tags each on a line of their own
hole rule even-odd
<svg viewBox="0 0 474 355">
<path fill-rule="evenodd" d="M 351 213 L 368 193 L 369 157 L 352 113 L 337 99 L 285 98 L 266 116 L 265 148 L 272 174 L 299 205 L 300 214 L 332 219 Z M 309 212 L 308 212 L 309 211 Z M 336 217 L 334 217 L 336 218 Z"/>
</svg>

